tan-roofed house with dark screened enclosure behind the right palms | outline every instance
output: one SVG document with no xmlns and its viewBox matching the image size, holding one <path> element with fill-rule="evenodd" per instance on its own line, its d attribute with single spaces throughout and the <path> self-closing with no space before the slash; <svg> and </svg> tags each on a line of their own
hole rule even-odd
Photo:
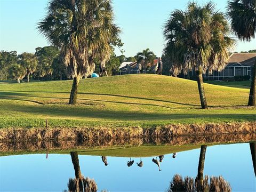
<svg viewBox="0 0 256 192">
<path fill-rule="evenodd" d="M 206 71 L 203 78 L 211 81 L 251 76 L 251 71 L 255 60 L 256 53 L 232 53 L 225 69 L 222 71 L 213 71 L 212 75 Z M 195 78 L 195 71 L 191 71 L 188 75 L 180 75 L 180 77 L 182 76 L 184 78 L 193 79 L 193 77 Z"/>
</svg>

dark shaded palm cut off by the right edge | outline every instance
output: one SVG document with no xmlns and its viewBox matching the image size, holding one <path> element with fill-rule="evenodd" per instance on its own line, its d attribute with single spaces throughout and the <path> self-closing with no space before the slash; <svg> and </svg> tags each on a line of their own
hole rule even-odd
<svg viewBox="0 0 256 192">
<path fill-rule="evenodd" d="M 256 32 L 256 1 L 255 0 L 231 0 L 228 1 L 228 16 L 231 19 L 231 29 L 237 37 L 250 42 L 255 38 Z M 256 106 L 256 59 L 252 68 L 252 82 L 248 106 Z"/>
</svg>

